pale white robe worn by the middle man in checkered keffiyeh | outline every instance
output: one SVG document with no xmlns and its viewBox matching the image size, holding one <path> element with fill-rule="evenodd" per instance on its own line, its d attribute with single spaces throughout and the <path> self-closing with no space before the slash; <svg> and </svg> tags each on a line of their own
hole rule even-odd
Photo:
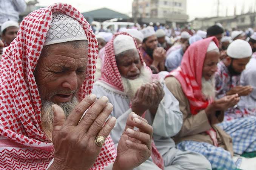
<svg viewBox="0 0 256 170">
<path fill-rule="evenodd" d="M 175 148 L 175 143 L 171 139 L 176 135 L 182 126 L 182 112 L 179 110 L 179 102 L 173 94 L 162 83 L 165 97 L 160 102 L 154 120 L 151 118 L 149 111 L 146 112 L 145 118 L 153 127 L 153 139 L 157 150 L 163 156 L 165 170 L 184 170 L 184 169 L 211 169 L 210 162 L 204 156 L 193 152 L 182 152 Z M 111 137 L 114 143 L 118 143 L 120 136 L 125 129 L 128 115 L 132 112 L 130 108 L 130 99 L 122 91 L 116 90 L 108 83 L 98 80 L 94 83 L 93 93 L 97 98 L 106 96 L 109 102 L 113 104 L 111 116 L 117 118 L 117 123 L 111 131 Z M 159 169 L 152 159 L 141 164 L 136 170 Z"/>
</svg>

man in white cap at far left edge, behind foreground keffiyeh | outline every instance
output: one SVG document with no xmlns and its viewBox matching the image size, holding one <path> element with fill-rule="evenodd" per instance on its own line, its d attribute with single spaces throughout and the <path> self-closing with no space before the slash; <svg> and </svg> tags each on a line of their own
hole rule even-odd
<svg viewBox="0 0 256 170">
<path fill-rule="evenodd" d="M 1 37 L 5 47 L 8 47 L 14 38 L 17 37 L 18 30 L 19 23 L 17 21 L 6 21 L 2 24 Z"/>
</svg>

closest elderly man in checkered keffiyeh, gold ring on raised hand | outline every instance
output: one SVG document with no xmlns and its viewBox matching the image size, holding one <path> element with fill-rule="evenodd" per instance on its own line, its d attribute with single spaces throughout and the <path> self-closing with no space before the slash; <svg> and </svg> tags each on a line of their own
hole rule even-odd
<svg viewBox="0 0 256 170">
<path fill-rule="evenodd" d="M 97 51 L 71 5 L 22 21 L 0 63 L 0 169 L 131 170 L 150 157 L 152 127 L 134 113 L 115 149 L 113 105 L 91 94 Z"/>
</svg>

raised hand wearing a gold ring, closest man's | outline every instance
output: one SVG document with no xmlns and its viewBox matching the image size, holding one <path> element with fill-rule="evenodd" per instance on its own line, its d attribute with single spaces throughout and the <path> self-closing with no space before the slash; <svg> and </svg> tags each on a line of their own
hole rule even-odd
<svg viewBox="0 0 256 170">
<path fill-rule="evenodd" d="M 102 149 L 96 145 L 95 138 L 103 136 L 106 139 L 116 123 L 114 117 L 106 121 L 113 109 L 113 105 L 108 103 L 108 98 L 102 97 L 96 102 L 95 100 L 94 94 L 85 97 L 66 121 L 63 110 L 58 105 L 52 105 L 52 143 L 55 150 L 54 162 L 49 170 L 88 170 L 94 164 Z"/>
</svg>

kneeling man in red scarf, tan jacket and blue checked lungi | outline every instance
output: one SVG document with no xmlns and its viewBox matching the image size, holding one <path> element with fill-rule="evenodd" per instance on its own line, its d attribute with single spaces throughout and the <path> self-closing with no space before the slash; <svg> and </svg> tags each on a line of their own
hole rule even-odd
<svg viewBox="0 0 256 170">
<path fill-rule="evenodd" d="M 254 137 L 241 139 L 243 122 L 232 122 L 227 126 L 216 126 L 224 119 L 224 111 L 239 102 L 237 94 L 215 100 L 215 77 L 219 61 L 216 37 L 206 38 L 188 47 L 180 67 L 171 72 L 165 83 L 179 101 L 183 113 L 183 125 L 174 137 L 178 149 L 203 154 L 212 168 L 233 170 L 241 165 L 234 161 L 233 153 L 242 154 L 252 150 L 244 145 L 246 140 L 255 143 Z M 245 124 L 244 126 L 248 126 Z M 231 127 L 231 128 L 230 128 Z M 254 146 L 254 145 L 253 145 Z"/>
</svg>

